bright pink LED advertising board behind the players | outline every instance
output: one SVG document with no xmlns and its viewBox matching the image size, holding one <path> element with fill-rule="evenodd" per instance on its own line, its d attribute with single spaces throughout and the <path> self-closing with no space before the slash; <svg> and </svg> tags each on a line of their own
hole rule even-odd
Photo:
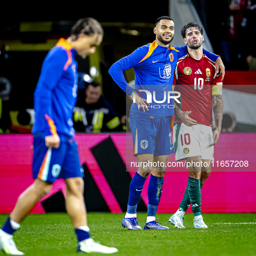
<svg viewBox="0 0 256 256">
<path fill-rule="evenodd" d="M 92 148 L 106 139 L 111 139 L 131 177 L 136 172 L 137 158 L 133 156 L 131 134 L 77 134 L 81 165 L 87 168 L 112 213 L 122 212 L 120 201 L 115 196 L 97 162 Z M 0 135 L 0 213 L 10 213 L 21 194 L 32 184 L 32 135 Z M 112 143 L 111 142 L 111 143 Z M 202 212 L 205 213 L 250 213 L 256 212 L 256 133 L 222 133 L 214 147 L 212 173 L 202 188 Z M 135 164 L 136 165 L 136 164 Z M 118 172 L 113 166 L 113 172 Z M 122 182 L 122 180 L 120 180 Z M 147 202 L 147 186 L 142 198 Z M 172 213 L 178 208 L 188 182 L 188 172 L 184 161 L 175 161 L 169 156 L 164 177 L 163 193 L 158 213 Z M 41 202 L 61 190 L 65 196 L 65 182 L 60 179 L 52 191 L 42 198 L 31 213 L 45 213 Z M 126 191 L 128 194 L 129 191 Z M 127 204 L 127 202 L 125 202 Z M 188 212 L 191 212 L 189 208 Z"/>
</svg>

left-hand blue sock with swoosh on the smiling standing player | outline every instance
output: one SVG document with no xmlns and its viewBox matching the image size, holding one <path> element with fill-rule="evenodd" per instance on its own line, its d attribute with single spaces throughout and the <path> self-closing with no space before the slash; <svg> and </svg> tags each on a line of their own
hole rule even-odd
<svg viewBox="0 0 256 256">
<path fill-rule="evenodd" d="M 143 178 L 138 172 L 135 173 L 130 184 L 129 200 L 128 200 L 128 214 L 136 214 L 137 204 L 141 196 L 144 183 L 147 178 Z"/>
</svg>

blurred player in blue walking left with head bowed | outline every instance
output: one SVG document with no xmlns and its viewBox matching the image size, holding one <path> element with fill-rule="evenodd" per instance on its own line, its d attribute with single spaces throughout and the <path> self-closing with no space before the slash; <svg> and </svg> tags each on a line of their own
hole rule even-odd
<svg viewBox="0 0 256 256">
<path fill-rule="evenodd" d="M 23 255 L 17 250 L 13 233 L 34 205 L 52 188 L 58 178 L 66 182 L 66 210 L 75 227 L 78 253 L 115 253 L 116 248 L 95 243 L 90 237 L 84 204 L 83 169 L 74 141 L 72 112 L 77 97 L 75 55 L 86 58 L 103 39 L 103 29 L 93 18 L 79 19 L 67 40 L 61 38 L 42 64 L 34 93 L 36 121 L 34 134 L 33 178 L 14 210 L 0 229 L 0 249 L 9 255 Z"/>
</svg>

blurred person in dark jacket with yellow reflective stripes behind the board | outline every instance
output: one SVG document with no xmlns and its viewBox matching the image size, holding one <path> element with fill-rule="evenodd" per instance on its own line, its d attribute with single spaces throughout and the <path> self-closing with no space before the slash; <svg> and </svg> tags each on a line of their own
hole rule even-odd
<svg viewBox="0 0 256 256">
<path fill-rule="evenodd" d="M 79 76 L 80 77 L 80 76 Z M 80 77 L 81 78 L 81 77 Z M 85 77 L 90 79 L 88 75 Z M 110 103 L 101 95 L 101 86 L 96 81 L 78 81 L 78 100 L 73 111 L 74 129 L 77 132 L 100 133 L 126 130 L 126 118 L 122 122 Z"/>
</svg>

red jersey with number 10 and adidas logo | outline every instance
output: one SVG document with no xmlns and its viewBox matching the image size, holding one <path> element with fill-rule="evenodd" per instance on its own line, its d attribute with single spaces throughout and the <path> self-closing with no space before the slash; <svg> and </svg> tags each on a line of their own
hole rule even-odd
<svg viewBox="0 0 256 256">
<path fill-rule="evenodd" d="M 191 110 L 189 117 L 207 126 L 212 126 L 211 87 L 222 85 L 221 76 L 216 77 L 215 70 L 215 62 L 206 55 L 196 60 L 186 54 L 178 59 L 173 78 L 174 91 L 181 94 L 177 106 L 182 111 Z M 175 123 L 182 123 L 177 116 Z"/>
</svg>

